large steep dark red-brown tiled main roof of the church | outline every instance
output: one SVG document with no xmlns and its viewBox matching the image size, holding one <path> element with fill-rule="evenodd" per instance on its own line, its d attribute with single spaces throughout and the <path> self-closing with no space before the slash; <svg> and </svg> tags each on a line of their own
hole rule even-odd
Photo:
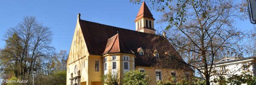
<svg viewBox="0 0 256 85">
<path fill-rule="evenodd" d="M 148 49 L 157 43 L 165 45 L 172 53 L 176 55 L 178 59 L 183 61 L 180 55 L 175 51 L 172 45 L 162 36 L 155 34 L 148 34 L 139 31 L 128 30 L 124 28 L 118 28 L 113 26 L 107 26 L 99 23 L 93 23 L 86 20 L 80 20 L 79 24 L 81 27 L 82 34 L 87 46 L 89 54 L 103 55 L 108 53 L 128 53 L 134 54 L 136 57 L 136 66 L 147 66 L 154 65 L 155 59 L 145 59 L 144 55 L 140 55 L 137 50 L 138 48 Z M 118 34 L 117 34 L 118 31 Z M 153 40 L 154 37 L 157 40 Z M 164 41 L 164 42 L 163 42 Z M 146 54 L 146 53 L 145 53 Z M 153 56 L 153 55 L 152 55 Z M 172 61 L 175 62 L 175 61 Z M 190 67 L 185 65 L 176 65 L 175 69 L 189 69 Z"/>
</svg>

